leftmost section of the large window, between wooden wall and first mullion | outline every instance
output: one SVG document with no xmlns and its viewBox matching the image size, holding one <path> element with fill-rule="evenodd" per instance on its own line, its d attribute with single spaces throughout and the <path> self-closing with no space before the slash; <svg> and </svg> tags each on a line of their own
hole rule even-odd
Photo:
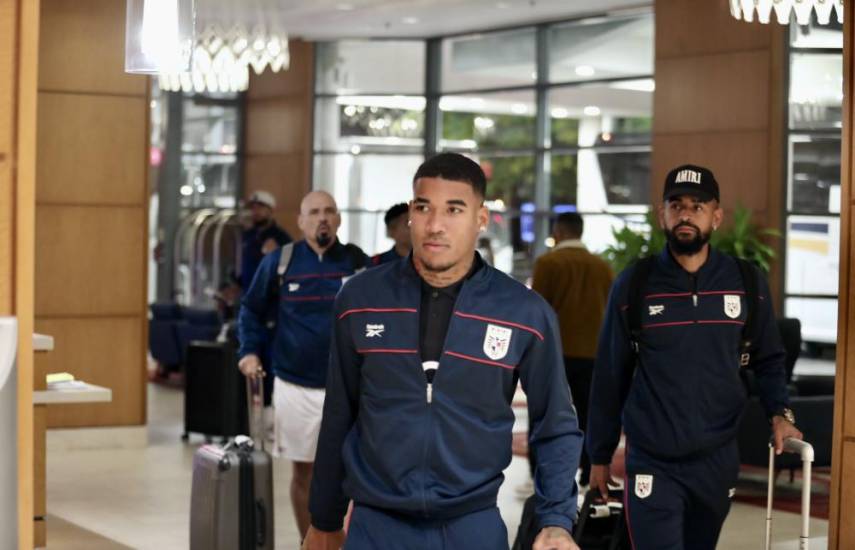
<svg viewBox="0 0 855 550">
<path fill-rule="evenodd" d="M 339 237 L 368 254 L 391 247 L 383 214 L 410 199 L 424 160 L 425 50 L 416 40 L 317 48 L 314 188 L 335 197 Z"/>
</svg>

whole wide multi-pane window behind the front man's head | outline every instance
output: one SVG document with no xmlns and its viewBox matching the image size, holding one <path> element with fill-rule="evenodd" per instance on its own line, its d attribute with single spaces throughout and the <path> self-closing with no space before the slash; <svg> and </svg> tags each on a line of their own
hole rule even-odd
<svg viewBox="0 0 855 550">
<path fill-rule="evenodd" d="M 382 215 L 425 155 L 456 151 L 488 178 L 480 246 L 524 279 L 549 220 L 579 211 L 600 250 L 649 203 L 653 17 L 609 15 L 423 41 L 340 41 L 317 56 L 314 185 L 342 238 L 391 246 Z M 430 68 L 430 69 L 428 69 Z"/>
</svg>

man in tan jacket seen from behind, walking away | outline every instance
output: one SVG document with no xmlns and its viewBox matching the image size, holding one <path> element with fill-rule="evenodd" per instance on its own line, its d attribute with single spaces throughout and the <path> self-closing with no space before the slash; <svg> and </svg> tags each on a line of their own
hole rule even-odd
<svg viewBox="0 0 855 550">
<path fill-rule="evenodd" d="M 532 289 L 558 315 L 564 370 L 573 394 L 579 425 L 588 422 L 588 399 L 597 338 L 614 275 L 609 264 L 582 244 L 584 222 L 575 212 L 558 216 L 552 236 L 555 248 L 534 264 Z M 587 485 L 591 461 L 582 450 L 580 485 Z"/>
</svg>

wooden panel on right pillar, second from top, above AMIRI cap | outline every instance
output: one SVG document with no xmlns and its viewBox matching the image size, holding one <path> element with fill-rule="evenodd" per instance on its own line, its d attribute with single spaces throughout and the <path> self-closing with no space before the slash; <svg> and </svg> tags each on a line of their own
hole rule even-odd
<svg viewBox="0 0 855 550">
<path fill-rule="evenodd" d="M 769 52 L 656 60 L 659 133 L 766 129 Z"/>
</svg>

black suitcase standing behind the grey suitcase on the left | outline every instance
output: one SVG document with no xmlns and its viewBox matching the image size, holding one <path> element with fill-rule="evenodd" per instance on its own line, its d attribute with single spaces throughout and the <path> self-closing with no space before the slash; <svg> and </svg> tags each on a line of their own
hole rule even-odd
<svg viewBox="0 0 855 550">
<path fill-rule="evenodd" d="M 184 384 L 184 434 L 229 438 L 246 434 L 244 376 L 230 343 L 193 341 L 187 346 Z"/>
</svg>

